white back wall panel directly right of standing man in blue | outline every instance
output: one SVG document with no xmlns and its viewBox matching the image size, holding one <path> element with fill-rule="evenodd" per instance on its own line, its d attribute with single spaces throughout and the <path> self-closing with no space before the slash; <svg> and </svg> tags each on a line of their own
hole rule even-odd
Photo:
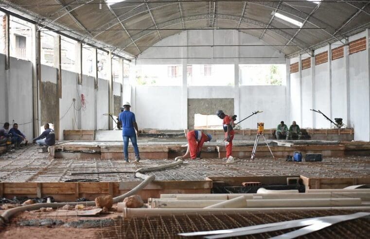
<svg viewBox="0 0 370 239">
<path fill-rule="evenodd" d="M 180 86 L 136 86 L 132 112 L 140 129 L 182 129 Z"/>
</svg>

